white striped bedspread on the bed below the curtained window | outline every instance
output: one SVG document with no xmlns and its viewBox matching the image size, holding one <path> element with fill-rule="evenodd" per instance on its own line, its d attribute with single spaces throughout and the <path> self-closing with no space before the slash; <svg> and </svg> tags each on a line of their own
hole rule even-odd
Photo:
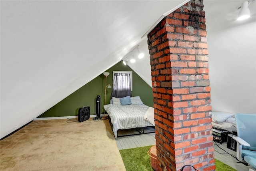
<svg viewBox="0 0 256 171">
<path fill-rule="evenodd" d="M 113 124 L 113 132 L 117 137 L 118 129 L 131 129 L 136 127 L 154 126 L 144 119 L 144 115 L 149 106 L 145 104 L 132 105 L 104 105 Z"/>
</svg>

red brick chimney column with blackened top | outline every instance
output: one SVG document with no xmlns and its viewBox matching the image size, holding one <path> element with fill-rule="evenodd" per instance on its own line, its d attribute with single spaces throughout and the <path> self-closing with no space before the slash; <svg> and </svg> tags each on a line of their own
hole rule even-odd
<svg viewBox="0 0 256 171">
<path fill-rule="evenodd" d="M 148 34 L 159 170 L 215 170 L 203 7 L 191 0 Z"/>
</svg>

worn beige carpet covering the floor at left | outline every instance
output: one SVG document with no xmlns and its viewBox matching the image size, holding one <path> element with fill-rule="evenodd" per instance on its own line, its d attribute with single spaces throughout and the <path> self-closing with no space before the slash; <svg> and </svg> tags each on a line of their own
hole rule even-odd
<svg viewBox="0 0 256 171">
<path fill-rule="evenodd" d="M 108 120 L 66 121 L 33 121 L 0 141 L 0 170 L 126 170 Z"/>
</svg>

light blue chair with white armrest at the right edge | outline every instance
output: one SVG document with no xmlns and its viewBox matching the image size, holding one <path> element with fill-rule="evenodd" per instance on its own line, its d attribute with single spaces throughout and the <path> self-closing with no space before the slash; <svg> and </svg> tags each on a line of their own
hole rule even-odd
<svg viewBox="0 0 256 171">
<path fill-rule="evenodd" d="M 256 169 L 256 114 L 236 114 L 236 158 Z"/>
</svg>

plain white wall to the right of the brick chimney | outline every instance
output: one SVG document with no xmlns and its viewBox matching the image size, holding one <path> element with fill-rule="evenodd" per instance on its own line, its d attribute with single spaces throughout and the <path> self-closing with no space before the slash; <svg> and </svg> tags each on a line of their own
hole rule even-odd
<svg viewBox="0 0 256 171">
<path fill-rule="evenodd" d="M 212 111 L 256 113 L 256 3 L 244 21 L 236 20 L 240 2 L 223 1 L 225 9 L 212 11 L 211 3 L 204 4 Z"/>
</svg>

